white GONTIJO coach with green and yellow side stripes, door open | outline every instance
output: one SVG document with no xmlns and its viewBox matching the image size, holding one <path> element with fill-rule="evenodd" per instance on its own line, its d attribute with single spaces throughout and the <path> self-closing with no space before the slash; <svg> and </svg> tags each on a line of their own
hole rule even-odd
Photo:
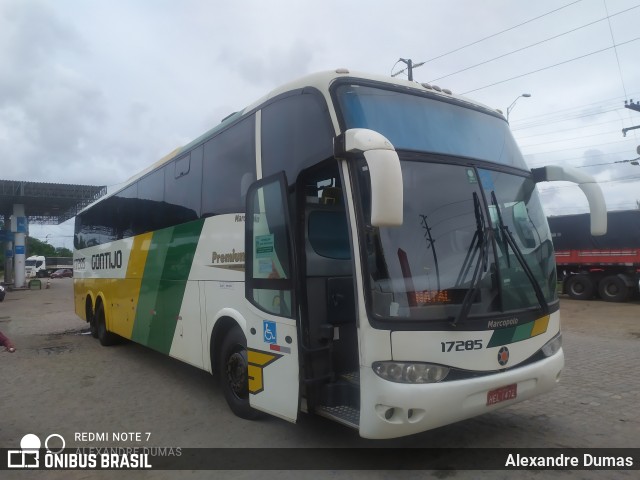
<svg viewBox="0 0 640 480">
<path fill-rule="evenodd" d="M 367 438 L 547 392 L 564 365 L 536 182 L 503 115 L 351 73 L 279 88 L 76 217 L 75 308 L 215 374 L 235 414 Z M 594 215 L 595 213 L 595 215 Z"/>
</svg>

